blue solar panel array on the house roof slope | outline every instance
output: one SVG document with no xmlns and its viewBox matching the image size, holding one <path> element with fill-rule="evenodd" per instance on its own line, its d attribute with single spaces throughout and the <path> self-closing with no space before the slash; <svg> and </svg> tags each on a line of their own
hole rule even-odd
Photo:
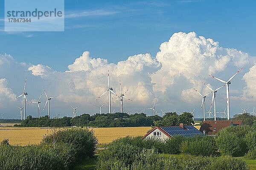
<svg viewBox="0 0 256 170">
<path fill-rule="evenodd" d="M 177 135 L 183 135 L 186 137 L 193 137 L 195 135 L 204 135 L 201 133 L 197 128 L 194 126 L 186 125 L 183 129 L 179 126 L 169 126 L 169 127 L 161 127 L 166 133 L 168 133 L 170 136 L 177 136 Z"/>
</svg>

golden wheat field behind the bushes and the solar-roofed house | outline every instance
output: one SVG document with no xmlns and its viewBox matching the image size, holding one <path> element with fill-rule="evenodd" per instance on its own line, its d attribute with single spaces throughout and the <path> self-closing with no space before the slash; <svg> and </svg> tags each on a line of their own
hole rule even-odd
<svg viewBox="0 0 256 170">
<path fill-rule="evenodd" d="M 151 127 L 102 127 L 90 128 L 99 139 L 99 144 L 108 143 L 119 137 L 143 136 Z M 12 145 L 38 144 L 43 137 L 51 133 L 44 127 L 0 127 L 0 141 L 9 139 Z"/>
</svg>

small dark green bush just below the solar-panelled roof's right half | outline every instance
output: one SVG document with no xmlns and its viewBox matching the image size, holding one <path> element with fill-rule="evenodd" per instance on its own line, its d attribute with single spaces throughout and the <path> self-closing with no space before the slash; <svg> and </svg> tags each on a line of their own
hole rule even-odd
<svg viewBox="0 0 256 170">
<path fill-rule="evenodd" d="M 175 136 L 175 138 L 170 138 L 166 140 L 164 144 L 164 153 L 169 154 L 179 154 L 180 151 L 180 144 L 185 140 L 184 136 Z"/>
</svg>

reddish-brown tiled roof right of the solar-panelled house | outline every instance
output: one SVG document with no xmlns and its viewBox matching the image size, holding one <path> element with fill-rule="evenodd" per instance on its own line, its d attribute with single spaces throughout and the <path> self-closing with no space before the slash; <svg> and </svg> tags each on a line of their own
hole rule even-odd
<svg viewBox="0 0 256 170">
<path fill-rule="evenodd" d="M 200 127 L 200 131 L 203 132 L 206 130 L 207 135 L 215 135 L 219 130 L 233 126 L 233 125 L 242 125 L 242 121 L 232 121 L 232 120 L 218 120 L 218 121 L 204 121 Z"/>
</svg>

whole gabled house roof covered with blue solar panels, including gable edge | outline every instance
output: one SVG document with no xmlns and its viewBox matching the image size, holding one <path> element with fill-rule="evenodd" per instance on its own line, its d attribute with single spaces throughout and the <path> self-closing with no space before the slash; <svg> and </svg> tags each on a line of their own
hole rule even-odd
<svg viewBox="0 0 256 170">
<path fill-rule="evenodd" d="M 182 135 L 185 137 L 193 137 L 195 135 L 204 135 L 202 132 L 200 132 L 197 128 L 195 128 L 192 125 L 185 125 L 184 128 L 180 126 L 159 126 L 159 127 L 154 127 L 147 134 L 145 134 L 143 138 L 148 136 L 148 134 L 153 132 L 155 129 L 159 129 L 168 137 L 174 137 L 178 135 Z"/>
</svg>

